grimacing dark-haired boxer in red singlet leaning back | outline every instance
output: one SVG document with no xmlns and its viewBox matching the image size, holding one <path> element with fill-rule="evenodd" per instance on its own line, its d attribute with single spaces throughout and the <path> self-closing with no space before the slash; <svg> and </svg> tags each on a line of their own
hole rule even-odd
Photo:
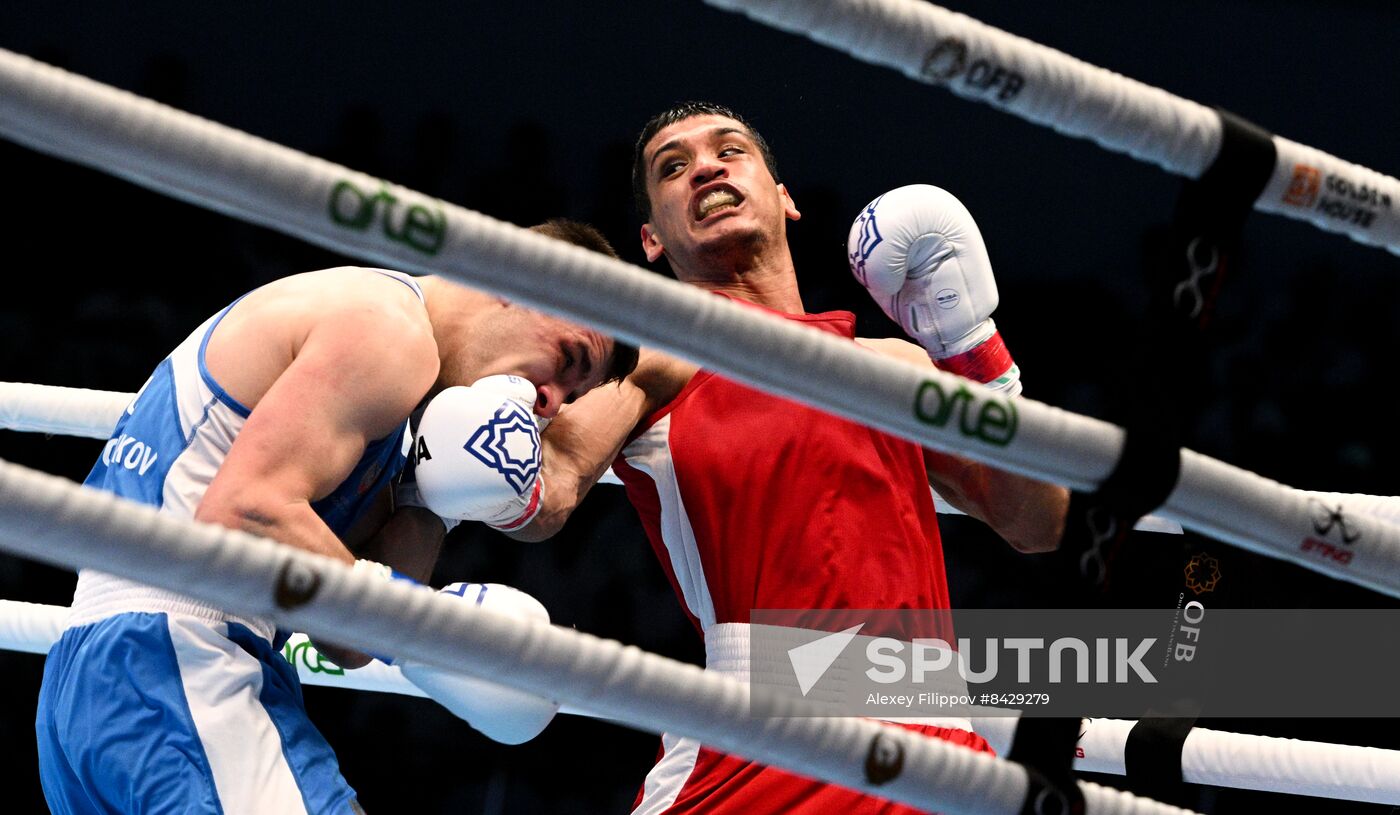
<svg viewBox="0 0 1400 815">
<path fill-rule="evenodd" d="M 932 349 L 857 339 L 848 312 L 805 312 L 785 231 L 798 210 L 767 144 L 732 112 L 689 104 L 652 119 L 633 181 L 647 258 L 666 258 L 682 281 L 932 365 Z M 958 358 L 986 368 L 986 333 Z M 518 536 L 552 535 L 613 464 L 711 668 L 742 647 L 750 609 L 948 608 L 930 483 L 1022 550 L 1054 548 L 1068 500 L 645 350 L 620 386 L 561 412 L 545 443 L 545 506 Z M 990 749 L 965 723 L 942 724 L 921 730 Z M 634 812 L 911 809 L 666 735 Z"/>
</svg>

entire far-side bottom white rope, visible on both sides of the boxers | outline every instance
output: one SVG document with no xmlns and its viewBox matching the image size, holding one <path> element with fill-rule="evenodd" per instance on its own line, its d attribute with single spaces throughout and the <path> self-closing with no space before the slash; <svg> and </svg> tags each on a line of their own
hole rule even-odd
<svg viewBox="0 0 1400 815">
<path fill-rule="evenodd" d="M 69 609 L 0 599 L 0 650 L 46 654 L 63 633 Z M 302 685 L 344 688 L 403 696 L 426 696 L 403 674 L 378 660 L 354 671 L 328 671 L 305 634 L 293 634 L 283 648 Z M 591 716 L 571 707 L 561 713 Z M 998 755 L 1007 755 L 1016 718 L 976 718 L 977 732 Z M 1127 734 L 1135 723 L 1091 718 L 1079 738 L 1077 770 L 1126 774 Z M 1323 742 L 1245 735 L 1194 728 L 1182 755 L 1187 781 L 1264 793 L 1317 795 L 1344 801 L 1400 804 L 1400 752 Z"/>
</svg>

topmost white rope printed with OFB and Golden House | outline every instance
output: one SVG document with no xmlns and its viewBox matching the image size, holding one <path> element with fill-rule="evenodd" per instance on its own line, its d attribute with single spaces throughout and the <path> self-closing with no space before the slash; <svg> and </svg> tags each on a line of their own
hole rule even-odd
<svg viewBox="0 0 1400 815">
<path fill-rule="evenodd" d="M 1177 175 L 1200 178 L 1219 153 L 1215 111 L 921 0 L 706 1 Z M 1278 157 L 1256 209 L 1400 255 L 1400 181 L 1273 140 Z M 1319 196 L 1340 209 L 1317 209 Z"/>
</svg>

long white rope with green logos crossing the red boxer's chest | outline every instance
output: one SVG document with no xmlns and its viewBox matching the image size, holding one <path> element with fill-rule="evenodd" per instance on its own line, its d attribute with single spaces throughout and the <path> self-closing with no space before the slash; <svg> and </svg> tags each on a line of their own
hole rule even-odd
<svg viewBox="0 0 1400 815">
<path fill-rule="evenodd" d="M 441 272 L 651 344 L 745 384 L 1074 489 L 1112 472 L 1124 433 L 759 314 L 546 238 L 0 50 L 0 133 L 255 224 L 396 269 Z M 346 204 L 361 209 L 332 217 Z M 368 209 L 365 209 L 368 207 Z M 339 218 L 339 220 L 337 220 Z M 350 225 L 346 225 L 346 223 Z M 437 224 L 437 227 L 434 227 Z M 427 252 L 406 237 L 438 230 Z M 421 244 L 423 241 L 420 241 Z M 1212 538 L 1400 597 L 1400 527 L 1358 518 L 1345 563 L 1305 550 L 1306 499 L 1191 451 L 1161 514 Z"/>
</svg>

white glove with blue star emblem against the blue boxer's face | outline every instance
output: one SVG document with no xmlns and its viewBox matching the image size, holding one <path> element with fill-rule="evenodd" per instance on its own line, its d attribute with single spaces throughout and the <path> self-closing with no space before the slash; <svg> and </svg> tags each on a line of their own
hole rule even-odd
<svg viewBox="0 0 1400 815">
<path fill-rule="evenodd" d="M 545 496 L 535 385 L 496 375 L 428 402 L 413 445 L 423 503 L 444 518 L 518 529 Z"/>
</svg>

